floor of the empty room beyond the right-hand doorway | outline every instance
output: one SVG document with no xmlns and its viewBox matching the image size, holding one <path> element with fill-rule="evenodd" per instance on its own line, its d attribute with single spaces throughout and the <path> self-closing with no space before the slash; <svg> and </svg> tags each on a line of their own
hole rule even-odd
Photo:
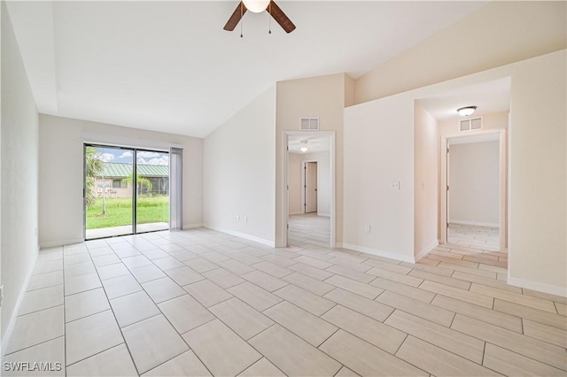
<svg viewBox="0 0 567 377">
<path fill-rule="evenodd" d="M 449 224 L 447 242 L 477 250 L 499 250 L 498 227 L 481 227 L 478 225 Z"/>
</svg>

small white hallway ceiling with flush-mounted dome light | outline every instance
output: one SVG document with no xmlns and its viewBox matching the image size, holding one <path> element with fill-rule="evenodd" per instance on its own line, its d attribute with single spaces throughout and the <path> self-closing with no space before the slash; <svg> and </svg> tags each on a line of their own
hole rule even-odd
<svg viewBox="0 0 567 377">
<path fill-rule="evenodd" d="M 419 104 L 438 120 L 460 119 L 456 111 L 465 106 L 477 106 L 474 116 L 510 110 L 510 78 L 485 81 L 418 100 Z"/>
</svg>

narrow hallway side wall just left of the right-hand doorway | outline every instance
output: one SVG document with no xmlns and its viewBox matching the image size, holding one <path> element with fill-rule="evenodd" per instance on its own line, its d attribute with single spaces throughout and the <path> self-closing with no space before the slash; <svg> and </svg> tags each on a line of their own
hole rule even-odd
<svg viewBox="0 0 567 377">
<path fill-rule="evenodd" d="M 421 258 L 439 244 L 439 127 L 416 102 L 414 253 Z"/>
</svg>

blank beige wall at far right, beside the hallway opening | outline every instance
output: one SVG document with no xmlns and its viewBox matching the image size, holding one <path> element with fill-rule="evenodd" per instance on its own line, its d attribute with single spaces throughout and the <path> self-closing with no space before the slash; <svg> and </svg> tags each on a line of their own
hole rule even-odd
<svg viewBox="0 0 567 377">
<path fill-rule="evenodd" d="M 563 50 L 513 65 L 509 133 L 509 282 L 563 296 L 567 296 L 565 55 Z"/>
</svg>

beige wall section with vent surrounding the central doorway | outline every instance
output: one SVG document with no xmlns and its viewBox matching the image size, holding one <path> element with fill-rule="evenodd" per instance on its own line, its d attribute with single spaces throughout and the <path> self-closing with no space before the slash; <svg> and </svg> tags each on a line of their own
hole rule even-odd
<svg viewBox="0 0 567 377">
<path fill-rule="evenodd" d="M 318 117 L 321 131 L 335 132 L 335 236 L 342 242 L 343 227 L 343 109 L 347 98 L 351 98 L 352 82 L 346 74 L 312 77 L 291 81 L 280 81 L 276 87 L 276 245 L 285 246 L 283 161 L 285 148 L 284 131 L 299 131 L 301 117 Z M 347 84 L 350 82 L 350 84 Z"/>
</svg>

